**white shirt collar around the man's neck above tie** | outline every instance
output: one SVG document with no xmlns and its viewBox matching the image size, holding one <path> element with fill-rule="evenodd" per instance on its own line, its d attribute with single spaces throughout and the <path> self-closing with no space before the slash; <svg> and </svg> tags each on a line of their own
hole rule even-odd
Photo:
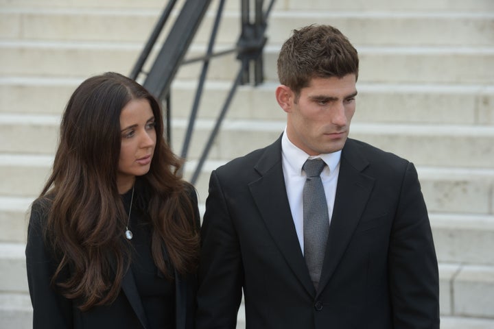
<svg viewBox="0 0 494 329">
<path fill-rule="evenodd" d="M 326 162 L 329 168 L 329 172 L 332 173 L 333 171 L 335 171 L 336 167 L 340 163 L 341 152 L 342 151 L 340 149 L 340 151 L 336 151 L 333 153 L 319 154 L 318 156 L 309 156 L 309 154 L 296 147 L 290 141 L 290 139 L 288 139 L 286 127 L 285 131 L 283 132 L 283 136 L 281 137 L 281 153 L 283 154 L 283 158 L 296 173 L 302 174 L 302 166 L 308 158 L 321 158 L 324 162 Z"/>
</svg>

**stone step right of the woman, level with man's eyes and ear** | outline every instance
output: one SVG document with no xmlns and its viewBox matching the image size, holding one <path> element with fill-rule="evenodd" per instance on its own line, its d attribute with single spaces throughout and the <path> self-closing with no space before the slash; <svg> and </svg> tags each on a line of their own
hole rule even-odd
<svg viewBox="0 0 494 329">
<path fill-rule="evenodd" d="M 195 96 L 196 85 L 196 82 L 174 82 L 172 118 L 189 117 L 193 103 L 191 95 Z M 257 87 L 239 87 L 227 117 L 284 120 L 285 112 L 274 99 L 277 86 L 277 82 L 266 82 Z M 202 95 L 199 114 L 215 119 L 230 88 L 231 82 L 210 82 Z M 494 85 L 357 82 L 357 90 L 357 112 L 353 122 L 494 124 Z M 399 104 L 399 108 L 390 104 Z"/>
</svg>

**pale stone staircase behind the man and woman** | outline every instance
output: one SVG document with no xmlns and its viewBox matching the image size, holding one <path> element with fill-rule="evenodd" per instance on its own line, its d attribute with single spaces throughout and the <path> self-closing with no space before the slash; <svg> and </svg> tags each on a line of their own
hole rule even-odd
<svg viewBox="0 0 494 329">
<path fill-rule="evenodd" d="M 165 0 L 0 0 L 0 328 L 30 328 L 25 278 L 28 208 L 53 161 L 73 89 L 104 71 L 130 73 Z M 201 54 L 214 8 L 189 56 Z M 228 0 L 216 49 L 239 34 Z M 441 328 L 494 328 L 494 2 L 279 0 L 268 26 L 266 83 L 239 88 L 196 184 L 273 141 L 284 127 L 275 60 L 290 30 L 329 23 L 361 58 L 351 137 L 412 160 L 440 262 Z M 235 56 L 213 60 L 186 177 L 222 107 Z M 198 64 L 172 85 L 172 145 L 180 152 Z M 242 311 L 239 328 L 244 328 Z"/>
</svg>

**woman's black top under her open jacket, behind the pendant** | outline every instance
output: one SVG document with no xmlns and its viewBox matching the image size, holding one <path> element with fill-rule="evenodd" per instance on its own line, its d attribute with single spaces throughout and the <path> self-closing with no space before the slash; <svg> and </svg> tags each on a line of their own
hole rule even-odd
<svg viewBox="0 0 494 329">
<path fill-rule="evenodd" d="M 151 223 L 148 215 L 139 205 L 139 189 L 134 191 L 134 202 L 130 213 L 129 230 L 132 231 L 132 272 L 141 297 L 150 328 L 175 328 L 175 283 L 165 278 L 154 265 L 151 252 Z M 132 189 L 122 195 L 126 212 L 130 205 Z M 122 232 L 124 234 L 124 232 Z M 173 269 L 167 263 L 173 276 Z"/>
</svg>

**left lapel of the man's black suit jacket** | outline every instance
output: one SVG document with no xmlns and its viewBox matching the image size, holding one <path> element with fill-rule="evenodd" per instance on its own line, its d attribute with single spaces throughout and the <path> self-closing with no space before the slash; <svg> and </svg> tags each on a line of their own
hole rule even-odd
<svg viewBox="0 0 494 329">
<path fill-rule="evenodd" d="M 249 184 L 252 198 L 281 254 L 307 292 L 313 295 L 314 286 L 298 243 L 286 195 L 281 167 L 281 138 L 266 148 L 255 169 L 261 178 Z"/>
</svg>

